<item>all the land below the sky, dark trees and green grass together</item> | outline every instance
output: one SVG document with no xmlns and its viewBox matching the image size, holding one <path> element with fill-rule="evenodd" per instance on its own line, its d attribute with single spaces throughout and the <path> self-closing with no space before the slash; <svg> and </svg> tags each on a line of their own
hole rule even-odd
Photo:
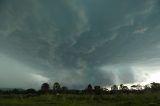
<svg viewBox="0 0 160 106">
<path fill-rule="evenodd" d="M 155 82 L 131 89 L 113 85 L 111 90 L 91 84 L 84 90 L 70 90 L 56 82 L 50 88 L 44 83 L 39 91 L 0 91 L 0 106 L 160 106 L 160 84 Z"/>
</svg>

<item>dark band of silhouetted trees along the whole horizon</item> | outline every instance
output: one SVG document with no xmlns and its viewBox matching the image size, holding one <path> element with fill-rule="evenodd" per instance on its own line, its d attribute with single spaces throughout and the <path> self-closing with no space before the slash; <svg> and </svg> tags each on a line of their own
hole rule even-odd
<svg viewBox="0 0 160 106">
<path fill-rule="evenodd" d="M 160 91 L 160 83 L 152 82 L 145 86 L 140 84 L 132 85 L 131 88 L 124 84 L 112 85 L 110 90 L 108 88 L 101 87 L 99 85 L 92 86 L 88 84 L 83 90 L 68 89 L 66 86 L 61 86 L 60 83 L 55 82 L 51 87 L 48 83 L 43 83 L 40 90 L 30 89 L 13 89 L 13 90 L 0 90 L 0 94 L 27 94 L 27 95 L 39 95 L 39 94 L 117 94 L 117 93 L 144 93 L 144 92 L 156 92 Z"/>
</svg>

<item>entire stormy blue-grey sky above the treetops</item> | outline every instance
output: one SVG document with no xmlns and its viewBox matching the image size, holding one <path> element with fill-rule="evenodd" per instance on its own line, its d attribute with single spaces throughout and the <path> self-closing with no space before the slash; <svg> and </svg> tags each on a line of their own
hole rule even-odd
<svg viewBox="0 0 160 106">
<path fill-rule="evenodd" d="M 159 0 L 0 0 L 0 88 L 160 82 Z"/>
</svg>

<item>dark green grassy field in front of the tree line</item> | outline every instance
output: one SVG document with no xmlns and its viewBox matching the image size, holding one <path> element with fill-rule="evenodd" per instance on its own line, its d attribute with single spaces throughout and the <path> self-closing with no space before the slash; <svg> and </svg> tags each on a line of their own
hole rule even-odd
<svg viewBox="0 0 160 106">
<path fill-rule="evenodd" d="M 114 95 L 0 95 L 0 106 L 160 106 L 160 92 Z"/>
</svg>

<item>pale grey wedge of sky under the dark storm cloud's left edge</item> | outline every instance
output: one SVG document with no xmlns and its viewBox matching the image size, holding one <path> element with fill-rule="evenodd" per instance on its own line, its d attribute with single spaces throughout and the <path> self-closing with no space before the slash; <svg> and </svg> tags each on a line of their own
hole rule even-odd
<svg viewBox="0 0 160 106">
<path fill-rule="evenodd" d="M 40 75 L 40 71 L 0 54 L 0 88 L 37 88 L 49 79 Z"/>
</svg>

